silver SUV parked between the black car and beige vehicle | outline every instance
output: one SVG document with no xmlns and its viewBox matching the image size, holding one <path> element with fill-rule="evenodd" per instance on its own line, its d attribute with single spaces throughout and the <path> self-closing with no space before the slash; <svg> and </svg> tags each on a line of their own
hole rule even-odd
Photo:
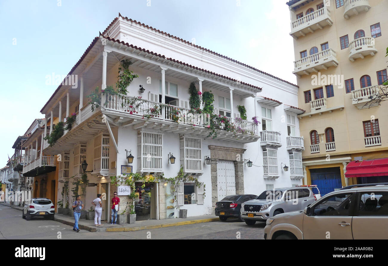
<svg viewBox="0 0 388 266">
<path fill-rule="evenodd" d="M 309 187 L 283 187 L 265 190 L 260 196 L 241 204 L 241 218 L 247 225 L 266 221 L 275 215 L 303 210 L 316 201 Z"/>
</svg>

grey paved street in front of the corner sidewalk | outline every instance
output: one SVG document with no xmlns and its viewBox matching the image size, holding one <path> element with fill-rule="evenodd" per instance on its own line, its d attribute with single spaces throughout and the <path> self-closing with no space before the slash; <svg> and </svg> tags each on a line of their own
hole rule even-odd
<svg viewBox="0 0 388 266">
<path fill-rule="evenodd" d="M 22 219 L 21 211 L 0 205 L 0 239 L 263 239 L 265 223 L 249 227 L 236 219 L 226 222 L 197 223 L 136 232 L 72 231 L 73 227 L 57 221 L 33 218 Z M 58 232 L 61 232 L 58 234 Z M 148 233 L 150 232 L 150 233 Z M 238 233 L 239 232 L 239 233 Z"/>
</svg>

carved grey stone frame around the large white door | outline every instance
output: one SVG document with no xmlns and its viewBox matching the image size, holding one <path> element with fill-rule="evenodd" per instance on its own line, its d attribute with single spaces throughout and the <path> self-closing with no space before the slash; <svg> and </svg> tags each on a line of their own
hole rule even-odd
<svg viewBox="0 0 388 266">
<path fill-rule="evenodd" d="M 244 194 L 244 160 L 242 154 L 246 149 L 209 145 L 210 149 L 210 176 L 211 176 L 211 213 L 214 214 L 218 201 L 217 163 L 218 160 L 234 162 L 236 176 L 236 194 Z"/>
</svg>

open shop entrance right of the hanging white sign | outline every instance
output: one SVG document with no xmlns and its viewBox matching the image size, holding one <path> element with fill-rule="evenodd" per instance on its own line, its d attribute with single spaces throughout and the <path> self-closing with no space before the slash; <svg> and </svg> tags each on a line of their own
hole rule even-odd
<svg viewBox="0 0 388 266">
<path fill-rule="evenodd" d="M 156 219 L 156 185 L 154 183 L 135 183 L 136 221 Z"/>
</svg>

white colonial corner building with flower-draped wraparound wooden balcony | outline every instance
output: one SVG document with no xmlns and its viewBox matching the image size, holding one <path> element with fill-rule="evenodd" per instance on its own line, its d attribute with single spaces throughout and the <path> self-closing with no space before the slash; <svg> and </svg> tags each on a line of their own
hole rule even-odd
<svg viewBox="0 0 388 266">
<path fill-rule="evenodd" d="M 97 93 L 107 86 L 116 88 L 122 60 L 130 60 L 129 69 L 139 77 L 127 88 L 128 95 L 104 94 L 102 107 L 92 111 L 87 96 L 96 87 Z M 72 200 L 71 184 L 80 179 L 84 160 L 91 171 L 86 207 L 97 193 L 105 192 L 103 220 L 108 219 L 110 199 L 117 190 L 110 177 L 131 171 L 171 178 L 183 167 L 197 178 L 199 186 L 176 184 L 178 206 L 187 209 L 187 216 L 214 213 L 215 203 L 226 195 L 258 195 L 265 189 L 302 184 L 304 144 L 296 115 L 304 111 L 294 107 L 298 94 L 294 84 L 120 14 L 93 40 L 69 75 L 76 77 L 77 88 L 59 86 L 41 110 L 50 124 L 76 113 L 73 128 L 54 146 L 43 141 L 43 154 L 61 154 L 58 200 L 62 192 L 65 200 Z M 212 139 L 207 137 L 211 129 L 204 120 L 197 120 L 195 126 L 176 122 L 173 112 L 189 114 L 192 82 L 201 93 L 213 93 L 213 112 L 225 115 L 237 132 L 221 126 Z M 145 101 L 136 100 L 139 96 Z M 245 106 L 247 120 L 239 118 L 239 105 Z M 148 118 L 150 108 L 158 114 Z M 48 134 L 45 127 L 43 136 Z M 132 164 L 127 162 L 126 150 L 134 157 Z M 174 164 L 171 154 L 177 158 Z M 205 163 L 207 156 L 210 165 Z M 289 166 L 287 172 L 284 166 Z M 62 190 L 65 184 L 70 185 L 70 197 Z M 171 186 L 136 184 L 137 218 L 178 217 Z M 129 193 L 120 194 L 126 207 Z"/>
</svg>

